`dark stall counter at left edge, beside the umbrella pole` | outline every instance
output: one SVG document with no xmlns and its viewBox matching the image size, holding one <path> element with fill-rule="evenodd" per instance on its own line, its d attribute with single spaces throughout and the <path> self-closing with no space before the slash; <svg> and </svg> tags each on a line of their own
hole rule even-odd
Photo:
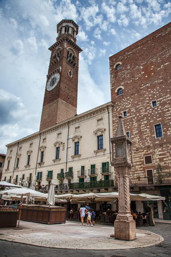
<svg viewBox="0 0 171 257">
<path fill-rule="evenodd" d="M 16 227 L 19 213 L 18 210 L 10 208 L 10 206 L 4 206 L 4 208 L 0 209 L 0 228 Z"/>
</svg>

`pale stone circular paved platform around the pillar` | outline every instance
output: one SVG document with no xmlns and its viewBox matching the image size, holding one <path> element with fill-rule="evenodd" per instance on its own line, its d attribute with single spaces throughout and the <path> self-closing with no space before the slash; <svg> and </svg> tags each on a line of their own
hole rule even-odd
<svg viewBox="0 0 171 257">
<path fill-rule="evenodd" d="M 82 228 L 80 222 L 67 221 L 66 224 L 47 225 L 21 221 L 20 226 L 23 230 L 0 228 L 0 234 L 2 234 L 0 240 L 56 248 L 56 250 L 60 248 L 80 250 L 133 249 L 155 246 L 164 241 L 162 236 L 144 229 L 136 230 L 137 239 L 133 241 L 115 240 L 110 237 L 110 234 L 114 234 L 113 226 L 86 227 L 84 225 Z"/>
</svg>

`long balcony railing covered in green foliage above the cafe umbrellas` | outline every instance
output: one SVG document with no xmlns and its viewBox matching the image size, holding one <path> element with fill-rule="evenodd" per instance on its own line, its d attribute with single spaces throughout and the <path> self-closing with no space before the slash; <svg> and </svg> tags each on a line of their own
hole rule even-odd
<svg viewBox="0 0 171 257">
<path fill-rule="evenodd" d="M 86 188 L 104 188 L 104 187 L 113 187 L 114 180 L 98 180 L 92 182 L 81 182 L 81 183 L 70 183 L 69 189 L 86 189 Z"/>
</svg>

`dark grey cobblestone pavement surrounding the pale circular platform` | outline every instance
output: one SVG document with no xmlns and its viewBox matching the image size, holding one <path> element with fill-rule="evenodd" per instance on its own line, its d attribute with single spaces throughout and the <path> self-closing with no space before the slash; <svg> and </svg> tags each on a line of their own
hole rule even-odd
<svg viewBox="0 0 171 257">
<path fill-rule="evenodd" d="M 144 229 L 144 227 L 139 228 Z M 0 241 L 0 257 L 145 257 L 145 256 L 171 256 L 171 225 L 170 224 L 155 224 L 155 226 L 146 227 L 146 230 L 161 235 L 164 238 L 164 242 L 158 246 L 152 246 L 148 248 L 137 248 L 130 250 L 67 250 L 67 249 L 52 249 L 45 247 L 29 246 L 26 244 L 11 243 L 6 241 Z"/>
</svg>

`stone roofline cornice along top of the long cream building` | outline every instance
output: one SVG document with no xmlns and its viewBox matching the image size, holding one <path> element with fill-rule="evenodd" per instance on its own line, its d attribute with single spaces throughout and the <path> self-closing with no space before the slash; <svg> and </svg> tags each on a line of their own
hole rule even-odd
<svg viewBox="0 0 171 257">
<path fill-rule="evenodd" d="M 60 122 L 56 125 L 53 125 L 50 128 L 46 128 L 44 130 L 38 131 L 34 134 L 31 134 L 29 136 L 21 138 L 21 139 L 15 141 L 15 142 L 7 144 L 6 146 L 7 146 L 8 149 L 10 149 L 10 148 L 16 147 L 18 145 L 18 143 L 19 144 L 24 144 L 24 143 L 30 142 L 32 140 L 35 140 L 35 139 L 39 138 L 40 135 L 45 136 L 45 135 L 50 134 L 52 132 L 59 131 L 59 130 L 64 129 L 64 128 L 68 128 L 68 121 L 69 121 L 69 126 L 72 126 L 72 125 L 78 124 L 82 121 L 93 119 L 94 117 L 97 117 L 98 115 L 107 113 L 107 106 L 108 106 L 109 113 L 110 113 L 112 111 L 113 105 L 114 105 L 113 102 L 105 103 L 104 105 L 100 105 L 100 106 L 98 106 L 94 109 L 91 109 L 91 110 L 87 111 L 87 112 L 81 113 L 79 115 L 76 115 L 76 116 L 68 119 L 68 120 L 65 120 L 65 121 L 62 121 L 62 122 Z"/>
</svg>

